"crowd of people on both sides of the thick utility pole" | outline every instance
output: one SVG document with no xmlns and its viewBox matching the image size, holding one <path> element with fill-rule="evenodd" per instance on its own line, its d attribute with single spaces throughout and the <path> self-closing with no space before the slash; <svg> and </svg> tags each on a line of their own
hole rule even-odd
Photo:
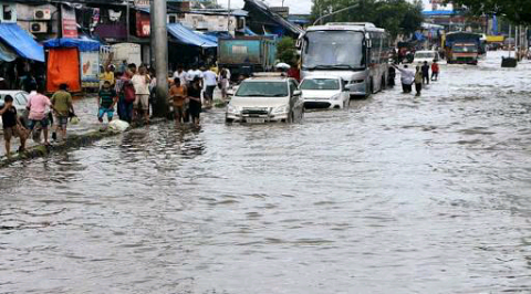
<svg viewBox="0 0 531 294">
<path fill-rule="evenodd" d="M 117 106 L 121 120 L 132 123 L 143 118 L 144 123 L 149 123 L 149 108 L 156 87 L 155 70 L 124 63 L 121 70 L 115 72 L 113 65 L 107 65 L 102 73 L 98 120 L 103 123 L 103 118 L 107 116 L 111 122 Z M 212 106 L 216 87 L 220 88 L 222 98 L 227 98 L 230 71 L 198 65 L 189 69 L 178 66 L 168 77 L 168 84 L 169 102 L 177 124 L 192 122 L 199 126 L 202 102 L 207 108 Z"/>
</svg>

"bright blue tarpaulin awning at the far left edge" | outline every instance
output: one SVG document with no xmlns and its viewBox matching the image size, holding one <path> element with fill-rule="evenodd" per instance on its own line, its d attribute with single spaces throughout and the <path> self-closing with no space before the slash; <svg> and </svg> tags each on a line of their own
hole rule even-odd
<svg viewBox="0 0 531 294">
<path fill-rule="evenodd" d="M 44 49 L 15 23 L 0 23 L 0 39 L 21 57 L 44 62 Z"/>
</svg>

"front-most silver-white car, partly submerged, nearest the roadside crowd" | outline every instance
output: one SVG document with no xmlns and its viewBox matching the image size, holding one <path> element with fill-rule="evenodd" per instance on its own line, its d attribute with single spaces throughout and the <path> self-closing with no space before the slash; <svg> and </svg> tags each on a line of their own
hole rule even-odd
<svg viewBox="0 0 531 294">
<path fill-rule="evenodd" d="M 302 93 L 294 78 L 261 75 L 243 81 L 227 105 L 226 122 L 295 123 L 304 116 Z"/>
</svg>

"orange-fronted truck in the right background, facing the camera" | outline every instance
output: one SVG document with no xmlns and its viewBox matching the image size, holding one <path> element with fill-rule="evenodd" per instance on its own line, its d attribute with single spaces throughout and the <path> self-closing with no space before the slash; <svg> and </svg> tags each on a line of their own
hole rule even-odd
<svg viewBox="0 0 531 294">
<path fill-rule="evenodd" d="M 470 32 L 450 32 L 446 34 L 445 51 L 449 64 L 478 64 L 486 54 L 483 35 Z"/>
</svg>

